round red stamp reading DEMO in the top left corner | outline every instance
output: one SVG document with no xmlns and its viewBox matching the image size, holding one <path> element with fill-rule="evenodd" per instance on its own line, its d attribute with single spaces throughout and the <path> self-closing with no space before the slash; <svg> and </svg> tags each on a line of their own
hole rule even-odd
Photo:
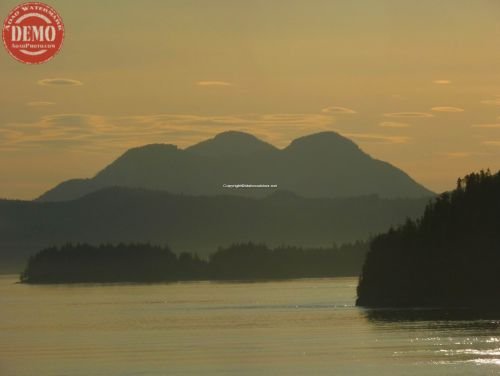
<svg viewBox="0 0 500 376">
<path fill-rule="evenodd" d="M 12 9 L 3 24 L 5 48 L 16 60 L 41 64 L 61 49 L 64 24 L 57 11 L 44 3 L 28 2 Z"/>
</svg>

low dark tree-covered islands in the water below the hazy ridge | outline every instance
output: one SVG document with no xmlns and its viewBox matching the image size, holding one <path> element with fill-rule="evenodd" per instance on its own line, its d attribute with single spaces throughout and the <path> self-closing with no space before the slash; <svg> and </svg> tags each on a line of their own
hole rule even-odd
<svg viewBox="0 0 500 376">
<path fill-rule="evenodd" d="M 31 257 L 21 281 L 160 282 L 358 275 L 366 250 L 362 242 L 329 249 L 270 249 L 263 244 L 245 243 L 221 248 L 207 261 L 149 244 L 67 244 Z"/>
</svg>

